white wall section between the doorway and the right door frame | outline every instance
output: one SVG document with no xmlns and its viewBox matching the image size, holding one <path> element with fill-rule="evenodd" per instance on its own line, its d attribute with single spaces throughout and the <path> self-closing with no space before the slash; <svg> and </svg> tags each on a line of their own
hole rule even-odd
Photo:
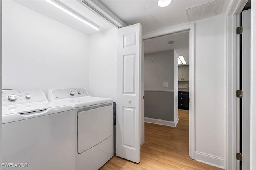
<svg viewBox="0 0 256 170">
<path fill-rule="evenodd" d="M 224 166 L 224 14 L 195 23 L 196 159 Z"/>
</svg>

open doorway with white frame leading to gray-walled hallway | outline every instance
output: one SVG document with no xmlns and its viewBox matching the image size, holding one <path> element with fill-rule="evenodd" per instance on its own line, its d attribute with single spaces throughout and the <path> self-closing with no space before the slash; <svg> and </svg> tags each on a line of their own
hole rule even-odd
<svg viewBox="0 0 256 170">
<path fill-rule="evenodd" d="M 162 147 L 173 147 L 172 154 L 180 153 L 195 159 L 194 24 L 185 27 L 142 36 L 145 43 L 145 116 L 142 125 L 144 120 L 146 147 L 163 144 Z M 182 133 L 179 134 L 179 130 Z M 143 132 L 141 134 L 143 139 Z M 184 143 L 181 144 L 179 137 Z"/>
</svg>

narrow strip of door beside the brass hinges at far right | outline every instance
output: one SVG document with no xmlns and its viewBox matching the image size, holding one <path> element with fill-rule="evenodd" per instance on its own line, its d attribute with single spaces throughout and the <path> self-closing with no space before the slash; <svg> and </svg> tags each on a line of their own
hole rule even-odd
<svg viewBox="0 0 256 170">
<path fill-rule="evenodd" d="M 250 169 L 250 38 L 251 10 L 242 12 L 242 170 Z"/>
</svg>

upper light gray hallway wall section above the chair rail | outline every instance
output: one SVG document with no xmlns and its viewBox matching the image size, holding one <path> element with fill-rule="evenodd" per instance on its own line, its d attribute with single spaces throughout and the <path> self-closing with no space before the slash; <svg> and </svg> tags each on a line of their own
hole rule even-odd
<svg viewBox="0 0 256 170">
<path fill-rule="evenodd" d="M 174 90 L 174 50 L 145 54 L 145 89 Z"/>
</svg>

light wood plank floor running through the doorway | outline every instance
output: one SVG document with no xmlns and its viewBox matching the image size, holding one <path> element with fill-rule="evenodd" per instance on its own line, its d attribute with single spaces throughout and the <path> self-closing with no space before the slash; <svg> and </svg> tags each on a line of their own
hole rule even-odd
<svg viewBox="0 0 256 170">
<path fill-rule="evenodd" d="M 221 170 L 188 156 L 188 114 L 179 110 L 176 127 L 145 123 L 139 164 L 114 156 L 100 170 Z"/>
</svg>

